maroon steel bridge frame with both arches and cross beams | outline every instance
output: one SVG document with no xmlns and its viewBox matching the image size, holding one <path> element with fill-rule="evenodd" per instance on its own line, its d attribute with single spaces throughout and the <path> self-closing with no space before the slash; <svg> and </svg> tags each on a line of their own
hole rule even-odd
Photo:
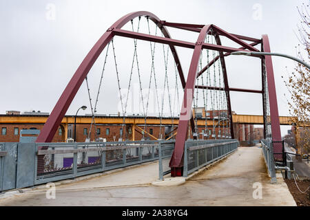
<svg viewBox="0 0 310 220">
<path fill-rule="evenodd" d="M 147 17 L 147 19 L 153 21 L 156 25 L 156 28 L 159 28 L 163 36 L 154 36 L 151 34 L 143 34 L 139 32 L 134 32 L 134 30 L 123 30 L 123 26 L 126 23 L 129 23 L 135 18 Z M 198 39 L 196 42 L 187 42 L 179 41 L 172 39 L 170 36 L 167 27 L 178 28 L 187 32 L 197 32 L 199 33 Z M 214 36 L 215 43 L 206 43 L 205 39 L 208 35 Z M 37 142 L 51 142 L 54 134 L 56 133 L 61 120 L 65 116 L 66 111 L 70 107 L 74 96 L 81 87 L 83 80 L 87 79 L 87 74 L 90 72 L 90 69 L 94 65 L 95 61 L 103 52 L 105 47 L 110 44 L 114 36 L 121 36 L 130 39 L 149 41 L 153 43 L 162 43 L 164 45 L 169 45 L 169 50 L 171 51 L 174 63 L 178 71 L 178 77 L 183 87 L 184 96 L 183 104 L 180 111 L 180 120 L 178 122 L 178 129 L 176 133 L 176 144 L 174 153 L 170 160 L 169 166 L 172 168 L 172 176 L 181 175 L 181 168 L 183 167 L 183 154 L 184 154 L 184 144 L 187 139 L 187 132 L 189 122 L 194 132 L 195 122 L 192 115 L 192 103 L 194 101 L 194 89 L 204 89 L 204 90 L 214 90 L 214 91 L 224 91 L 227 101 L 227 111 L 229 113 L 229 124 L 232 124 L 232 115 L 231 115 L 231 100 L 230 100 L 230 91 L 242 91 L 249 93 L 262 94 L 262 109 L 264 114 L 264 128 L 265 128 L 265 137 L 269 135 L 267 133 L 267 128 L 269 127 L 272 131 L 272 140 L 280 141 L 280 122 L 278 117 L 278 104 L 276 98 L 276 87 L 273 77 L 273 65 L 271 61 L 271 56 L 258 56 L 261 60 L 261 76 L 262 76 L 262 89 L 261 90 L 252 90 L 252 89 L 239 89 L 229 87 L 228 77 L 227 77 L 227 68 L 225 65 L 225 56 L 229 56 L 231 52 L 270 52 L 269 39 L 267 35 L 262 35 L 261 39 L 254 39 L 248 36 L 241 36 L 238 34 L 231 34 L 218 28 L 216 25 L 196 25 L 188 23 L 170 23 L 167 21 L 162 21 L 156 15 L 151 12 L 132 12 L 126 14 L 121 19 L 118 19 L 107 31 L 101 36 L 99 41 L 96 42 L 92 50 L 84 58 L 79 68 L 76 70 L 75 74 L 72 76 L 72 79 L 68 83 L 67 87 L 63 91 L 63 94 L 59 98 L 58 102 L 47 122 L 43 126 Z M 231 41 L 234 41 L 240 47 L 227 47 L 221 44 L 220 36 L 225 36 Z M 247 43 L 247 42 L 251 43 Z M 255 46 L 261 45 L 260 50 Z M 151 46 L 152 47 L 152 46 Z M 176 52 L 176 47 L 185 47 L 193 50 L 192 61 L 189 66 L 189 72 L 187 79 L 183 74 L 182 65 L 180 59 L 178 58 L 178 53 Z M 198 65 L 200 61 L 200 55 L 203 50 L 213 50 L 218 52 L 218 56 L 214 57 L 213 60 L 209 61 L 205 67 L 198 70 Z M 223 72 L 223 87 L 212 87 L 207 85 L 196 85 L 196 79 L 209 69 L 216 61 L 220 61 L 221 71 Z M 215 68 L 215 67 L 214 67 Z M 270 133 L 270 132 L 269 132 Z M 230 126 L 231 137 L 234 138 L 234 129 L 233 126 Z M 282 152 L 280 148 L 274 148 L 274 151 L 277 153 Z"/>
</svg>

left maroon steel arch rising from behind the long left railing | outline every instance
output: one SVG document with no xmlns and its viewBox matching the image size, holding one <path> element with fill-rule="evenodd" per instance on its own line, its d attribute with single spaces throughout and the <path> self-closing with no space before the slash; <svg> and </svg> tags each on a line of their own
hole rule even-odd
<svg viewBox="0 0 310 220">
<path fill-rule="evenodd" d="M 88 72 L 90 72 L 90 69 L 92 68 L 92 65 L 94 65 L 94 62 L 99 57 L 107 43 L 109 43 L 112 38 L 116 35 L 114 30 L 119 30 L 125 25 L 127 22 L 131 21 L 132 19 L 136 17 L 142 17 L 147 16 L 150 20 L 154 21 L 158 25 L 158 28 L 161 29 L 161 32 L 163 32 L 163 35 L 165 38 L 170 39 L 169 32 L 167 31 L 167 28 L 165 28 L 160 23 L 160 19 L 156 17 L 156 15 L 152 14 L 151 12 L 132 12 L 130 14 L 125 15 L 121 19 L 118 19 L 108 30 L 101 36 L 99 41 L 92 47 L 92 50 L 87 54 L 87 56 L 84 58 L 83 62 L 79 66 L 79 68 L 76 70 L 74 76 L 72 76 L 70 82 L 68 83 L 67 87 L 63 91 L 63 94 L 61 94 L 61 97 L 59 98 L 58 102 L 56 103 L 52 113 L 50 114 L 50 117 L 45 122 L 45 125 L 43 126 L 43 129 L 39 136 L 37 137 L 37 142 L 51 142 L 52 138 L 54 137 L 54 134 L 57 131 L 57 128 L 59 127 L 59 124 L 61 124 L 61 120 L 63 119 L 63 116 L 65 116 L 65 113 L 67 112 L 68 108 L 70 107 L 70 104 L 76 95 L 76 92 L 81 87 L 83 80 L 87 76 Z M 183 88 L 185 87 L 185 78 L 183 75 L 183 69 L 180 65 L 180 60 L 178 58 L 178 54 L 176 52 L 176 49 L 174 45 L 169 45 L 170 50 L 174 56 L 174 61 L 176 63 L 176 66 L 178 68 L 178 73 L 180 76 L 180 81 L 183 85 Z M 192 120 L 192 128 L 194 128 L 194 120 Z"/>
</svg>

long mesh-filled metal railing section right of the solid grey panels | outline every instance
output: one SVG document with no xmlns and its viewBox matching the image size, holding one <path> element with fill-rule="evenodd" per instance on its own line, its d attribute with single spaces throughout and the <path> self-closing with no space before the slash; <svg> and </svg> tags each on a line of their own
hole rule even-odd
<svg viewBox="0 0 310 220">
<path fill-rule="evenodd" d="M 158 142 L 36 143 L 34 184 L 158 159 Z"/>
</svg>

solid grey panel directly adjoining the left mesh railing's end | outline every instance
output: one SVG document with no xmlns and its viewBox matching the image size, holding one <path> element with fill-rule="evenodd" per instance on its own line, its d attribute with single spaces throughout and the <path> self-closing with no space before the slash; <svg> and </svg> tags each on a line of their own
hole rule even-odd
<svg viewBox="0 0 310 220">
<path fill-rule="evenodd" d="M 16 188 L 34 186 L 36 145 L 34 143 L 20 143 L 17 152 Z"/>
</svg>

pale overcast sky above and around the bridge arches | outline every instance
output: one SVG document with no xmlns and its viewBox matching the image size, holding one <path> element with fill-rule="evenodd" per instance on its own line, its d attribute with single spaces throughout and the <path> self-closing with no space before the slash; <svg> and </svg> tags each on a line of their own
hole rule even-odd
<svg viewBox="0 0 310 220">
<path fill-rule="evenodd" d="M 228 32 L 255 38 L 268 34 L 272 52 L 295 56 L 298 40 L 294 32 L 299 22 L 296 6 L 302 2 L 0 0 L 0 113 L 6 113 L 6 110 L 51 112 L 94 43 L 110 25 L 129 12 L 146 10 L 161 20 L 178 23 L 213 23 Z M 169 32 L 174 39 L 192 42 L 198 36 L 182 34 L 172 28 Z M 223 39 L 225 43 L 229 45 Z M 177 47 L 177 51 L 187 76 L 192 50 Z M 144 56 L 142 52 L 140 54 Z M 103 61 L 103 56 L 101 58 Z M 260 61 L 257 58 L 229 56 L 226 63 L 231 87 L 261 89 Z M 100 72 L 102 62 L 99 64 L 94 65 L 92 72 Z M 287 77 L 286 67 L 292 71 L 293 61 L 273 57 L 280 115 L 289 114 L 284 96 L 287 89 L 281 78 Z M 90 80 L 90 85 L 96 83 L 92 96 L 96 95 L 94 91 L 100 73 L 96 76 Z M 101 97 L 97 113 L 117 113 L 116 75 L 106 76 L 103 79 L 106 95 Z M 128 78 L 129 74 L 123 74 L 123 77 Z M 114 80 L 115 84 L 107 83 L 109 80 Z M 67 113 L 74 115 L 83 104 L 89 106 L 85 83 Z M 232 110 L 239 114 L 262 114 L 258 94 L 231 92 L 231 105 Z M 90 108 L 83 113 L 90 113 Z"/>
</svg>

